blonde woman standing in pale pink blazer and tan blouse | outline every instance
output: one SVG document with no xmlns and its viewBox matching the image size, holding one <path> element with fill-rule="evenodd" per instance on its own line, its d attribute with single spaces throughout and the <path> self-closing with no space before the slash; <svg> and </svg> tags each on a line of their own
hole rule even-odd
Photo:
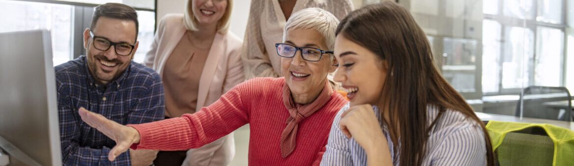
<svg viewBox="0 0 574 166">
<path fill-rule="evenodd" d="M 242 42 L 229 32 L 232 0 L 189 0 L 183 15 L 160 21 L 145 65 L 164 83 L 165 118 L 193 114 L 243 82 Z M 227 165 L 234 156 L 232 133 L 201 148 L 161 151 L 156 165 Z"/>
</svg>

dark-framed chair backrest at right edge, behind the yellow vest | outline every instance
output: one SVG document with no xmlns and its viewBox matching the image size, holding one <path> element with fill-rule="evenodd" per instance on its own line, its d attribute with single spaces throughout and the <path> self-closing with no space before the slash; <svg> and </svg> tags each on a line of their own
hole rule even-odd
<svg viewBox="0 0 574 166">
<path fill-rule="evenodd" d="M 572 96 L 565 87 L 531 86 L 525 88 L 516 106 L 515 116 L 572 121 Z M 567 106 L 549 102 L 568 101 Z"/>
</svg>

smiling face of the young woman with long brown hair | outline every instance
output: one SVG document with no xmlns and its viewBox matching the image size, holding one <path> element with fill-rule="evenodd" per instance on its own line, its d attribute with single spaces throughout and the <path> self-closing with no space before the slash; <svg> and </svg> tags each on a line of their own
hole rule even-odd
<svg viewBox="0 0 574 166">
<path fill-rule="evenodd" d="M 335 57 L 339 67 L 334 80 L 343 84 L 351 106 L 376 105 L 387 76 L 385 60 L 342 34 L 335 39 Z"/>
</svg>

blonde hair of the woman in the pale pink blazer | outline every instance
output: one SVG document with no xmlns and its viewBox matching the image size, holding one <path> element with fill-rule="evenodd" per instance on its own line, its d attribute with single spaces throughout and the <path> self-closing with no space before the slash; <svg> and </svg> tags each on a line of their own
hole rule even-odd
<svg viewBox="0 0 574 166">
<path fill-rule="evenodd" d="M 183 22 L 185 25 L 185 29 L 191 31 L 197 31 L 197 19 L 195 15 L 193 15 L 193 3 L 192 0 L 188 0 L 185 2 L 185 11 L 184 11 L 184 18 Z M 217 31 L 222 34 L 226 34 L 227 30 L 229 29 L 229 23 L 231 18 L 231 9 L 233 8 L 233 0 L 227 0 L 227 7 L 225 9 L 225 13 L 223 13 L 223 17 L 219 19 L 217 24 Z"/>
</svg>

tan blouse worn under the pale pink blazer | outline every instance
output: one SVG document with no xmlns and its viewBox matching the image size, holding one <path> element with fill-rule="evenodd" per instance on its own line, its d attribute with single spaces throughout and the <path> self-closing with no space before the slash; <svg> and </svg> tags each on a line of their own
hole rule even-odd
<svg viewBox="0 0 574 166">
<path fill-rule="evenodd" d="M 196 51 L 189 40 L 189 31 L 181 38 L 165 62 L 164 81 L 165 116 L 180 117 L 193 114 L 197 107 L 199 79 L 208 52 Z"/>
</svg>

